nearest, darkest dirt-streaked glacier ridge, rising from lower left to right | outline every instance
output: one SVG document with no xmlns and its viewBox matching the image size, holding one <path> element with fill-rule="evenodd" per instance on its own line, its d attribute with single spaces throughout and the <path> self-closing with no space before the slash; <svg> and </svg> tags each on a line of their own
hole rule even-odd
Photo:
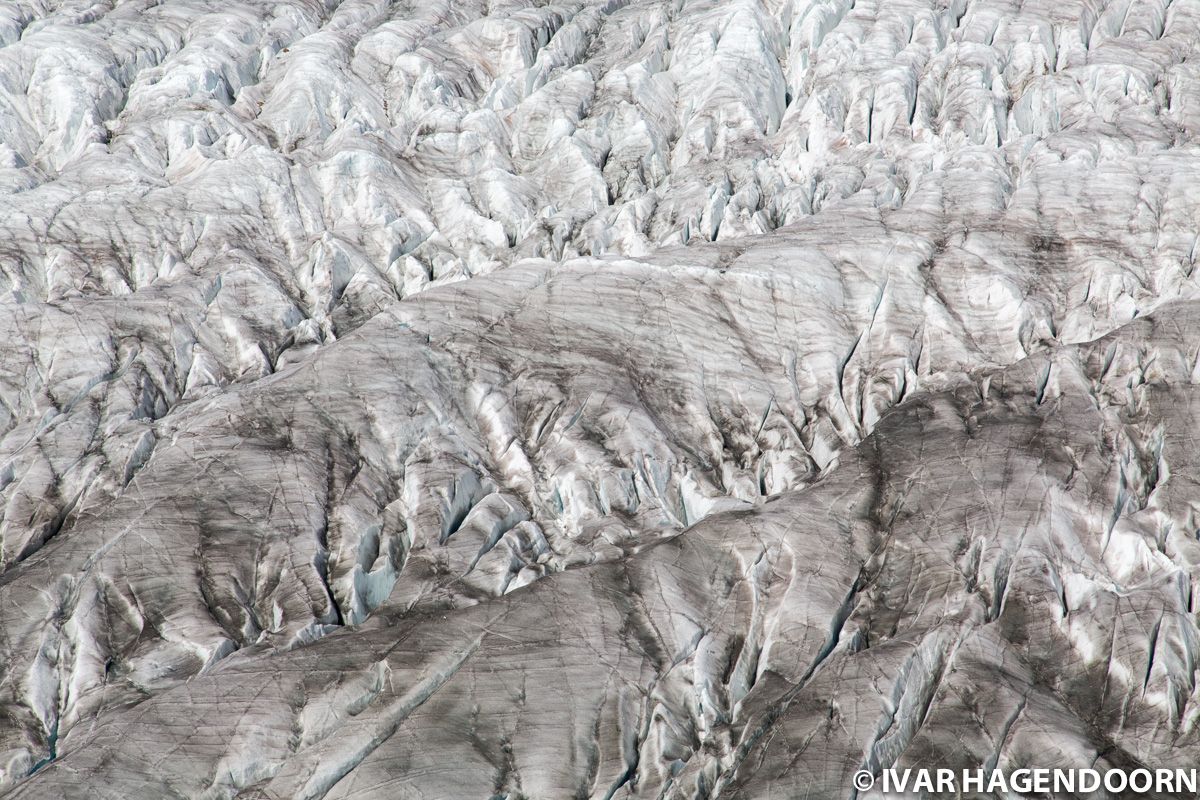
<svg viewBox="0 0 1200 800">
<path fill-rule="evenodd" d="M 919 393 L 808 489 L 623 558 L 266 637 L 71 723 L 11 796 L 846 796 L 863 766 L 1189 766 L 1198 336 L 1200 306 L 1166 306 Z M 450 585 L 486 507 L 440 553 Z"/>
</svg>

